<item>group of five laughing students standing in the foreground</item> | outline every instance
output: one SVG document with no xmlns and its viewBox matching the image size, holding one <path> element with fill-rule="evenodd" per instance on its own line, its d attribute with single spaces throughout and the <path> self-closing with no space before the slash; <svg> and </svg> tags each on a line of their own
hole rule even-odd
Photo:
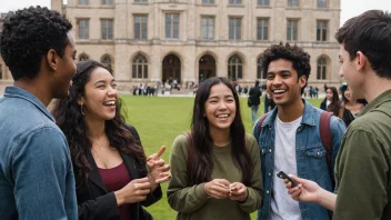
<svg viewBox="0 0 391 220">
<path fill-rule="evenodd" d="M 207 79 L 170 164 L 166 147 L 144 154 L 109 69 L 74 64 L 71 28 L 40 7 L 4 21 L 0 50 L 14 86 L 0 99 L 1 219 L 152 219 L 143 207 L 162 198 L 167 181 L 183 220 L 250 219 L 257 210 L 259 220 L 391 218 L 390 13 L 367 11 L 335 34 L 351 99 L 369 101 L 348 130 L 302 99 L 310 56 L 273 44 L 262 71 L 277 108 L 248 134 L 232 84 Z"/>
</svg>

